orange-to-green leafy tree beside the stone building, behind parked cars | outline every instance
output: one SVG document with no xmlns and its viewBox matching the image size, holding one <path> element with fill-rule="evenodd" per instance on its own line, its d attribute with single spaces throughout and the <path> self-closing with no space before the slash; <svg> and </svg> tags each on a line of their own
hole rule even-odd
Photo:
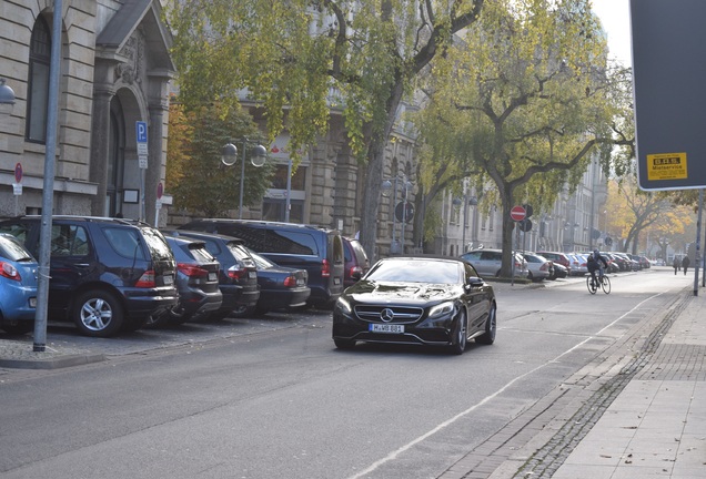
<svg viewBox="0 0 706 479">
<path fill-rule="evenodd" d="M 170 108 L 167 179 L 176 210 L 199 212 L 208 217 L 225 216 L 239 207 L 242 153 L 233 166 L 221 162 L 223 145 L 234 142 L 239 152 L 249 139 L 264 142 L 249 114 L 219 104 L 202 105 L 185 112 L 172 102 Z M 262 198 L 270 187 L 274 166 L 265 162 L 254 167 L 245 160 L 243 205 Z"/>
</svg>

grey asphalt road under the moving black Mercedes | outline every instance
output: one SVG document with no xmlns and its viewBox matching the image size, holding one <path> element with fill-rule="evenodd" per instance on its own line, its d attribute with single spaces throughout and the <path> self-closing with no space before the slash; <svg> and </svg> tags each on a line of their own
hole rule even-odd
<svg viewBox="0 0 706 479">
<path fill-rule="evenodd" d="M 339 351 L 324 313 L 102 339 L 107 361 L 0 377 L 0 476 L 436 478 L 693 277 L 612 281 L 497 285 L 496 343 L 463 356 Z"/>
</svg>

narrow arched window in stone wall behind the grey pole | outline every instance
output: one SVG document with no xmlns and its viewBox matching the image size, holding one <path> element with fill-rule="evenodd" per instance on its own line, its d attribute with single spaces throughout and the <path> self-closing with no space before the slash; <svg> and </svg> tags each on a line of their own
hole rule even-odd
<svg viewBox="0 0 706 479">
<path fill-rule="evenodd" d="M 47 141 L 50 59 L 51 32 L 47 21 L 39 17 L 30 42 L 26 131 L 27 140 L 37 143 Z"/>
</svg>

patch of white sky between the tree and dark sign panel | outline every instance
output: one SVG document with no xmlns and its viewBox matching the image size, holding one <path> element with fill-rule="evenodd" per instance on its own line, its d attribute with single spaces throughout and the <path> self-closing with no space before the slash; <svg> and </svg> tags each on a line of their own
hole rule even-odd
<svg viewBox="0 0 706 479">
<path fill-rule="evenodd" d="M 629 0 L 593 0 L 593 11 L 601 18 L 601 23 L 608 33 L 608 57 L 631 67 Z"/>
</svg>

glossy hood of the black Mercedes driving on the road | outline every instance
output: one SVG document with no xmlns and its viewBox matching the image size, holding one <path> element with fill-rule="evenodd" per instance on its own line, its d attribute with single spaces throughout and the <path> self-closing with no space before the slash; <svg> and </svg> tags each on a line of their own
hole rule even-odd
<svg viewBox="0 0 706 479">
<path fill-rule="evenodd" d="M 355 302 L 418 302 L 443 300 L 458 295 L 460 286 L 428 283 L 379 283 L 360 281 L 345 291 Z"/>
</svg>

